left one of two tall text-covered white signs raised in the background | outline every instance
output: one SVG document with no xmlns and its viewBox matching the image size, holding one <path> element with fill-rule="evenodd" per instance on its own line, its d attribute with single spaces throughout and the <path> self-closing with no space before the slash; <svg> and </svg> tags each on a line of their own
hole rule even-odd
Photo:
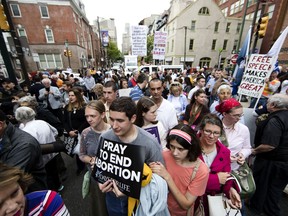
<svg viewBox="0 0 288 216">
<path fill-rule="evenodd" d="M 132 55 L 146 56 L 147 55 L 147 26 L 132 26 Z"/>
</svg>

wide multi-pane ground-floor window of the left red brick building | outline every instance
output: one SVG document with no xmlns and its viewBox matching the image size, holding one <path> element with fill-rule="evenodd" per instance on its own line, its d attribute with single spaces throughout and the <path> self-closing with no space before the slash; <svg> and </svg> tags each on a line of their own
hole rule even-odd
<svg viewBox="0 0 288 216">
<path fill-rule="evenodd" d="M 45 69 L 63 68 L 60 54 L 40 54 L 40 67 Z"/>
</svg>

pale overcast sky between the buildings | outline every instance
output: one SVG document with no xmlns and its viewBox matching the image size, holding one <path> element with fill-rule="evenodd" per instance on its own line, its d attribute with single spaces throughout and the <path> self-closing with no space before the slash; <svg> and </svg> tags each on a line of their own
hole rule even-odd
<svg viewBox="0 0 288 216">
<path fill-rule="evenodd" d="M 150 17 L 151 14 L 162 14 L 170 6 L 170 0 L 82 0 L 82 2 L 90 24 L 97 19 L 97 16 L 115 19 L 119 49 L 125 23 L 137 25 L 143 18 Z"/>
</svg>

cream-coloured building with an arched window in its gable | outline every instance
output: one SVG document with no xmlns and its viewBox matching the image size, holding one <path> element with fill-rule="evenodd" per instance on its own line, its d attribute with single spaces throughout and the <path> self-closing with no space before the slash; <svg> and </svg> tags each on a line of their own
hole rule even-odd
<svg viewBox="0 0 288 216">
<path fill-rule="evenodd" d="M 229 64 L 240 37 L 241 19 L 225 17 L 211 0 L 172 0 L 165 25 L 168 32 L 166 64 L 221 67 Z M 244 26 L 247 32 L 251 20 Z M 164 28 L 164 26 L 163 26 Z"/>
</svg>

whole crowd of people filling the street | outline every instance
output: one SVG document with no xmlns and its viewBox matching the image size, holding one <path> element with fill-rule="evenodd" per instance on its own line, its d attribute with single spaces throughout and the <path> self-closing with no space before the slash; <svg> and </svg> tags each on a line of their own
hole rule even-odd
<svg viewBox="0 0 288 216">
<path fill-rule="evenodd" d="M 59 153 L 67 134 L 80 146 L 75 175 L 89 174 L 91 215 L 147 215 L 151 209 L 153 215 L 194 215 L 203 204 L 209 216 L 207 197 L 224 194 L 242 215 L 247 205 L 255 215 L 278 216 L 288 184 L 286 81 L 287 72 L 273 71 L 260 100 L 251 98 L 254 115 L 261 116 L 251 143 L 243 106 L 232 96 L 233 81 L 219 69 L 135 71 L 131 77 L 89 70 L 84 77 L 39 73 L 21 88 L 2 79 L 0 212 L 24 215 L 41 206 L 37 211 L 43 215 L 69 215 L 57 194 L 69 169 Z M 114 179 L 99 183 L 91 177 L 106 140 L 143 148 L 150 177 L 138 202 Z M 44 152 L 51 143 L 52 150 Z M 241 199 L 231 170 L 252 156 L 256 191 Z M 162 195 L 149 202 L 153 196 L 145 194 L 152 184 Z"/>
</svg>

